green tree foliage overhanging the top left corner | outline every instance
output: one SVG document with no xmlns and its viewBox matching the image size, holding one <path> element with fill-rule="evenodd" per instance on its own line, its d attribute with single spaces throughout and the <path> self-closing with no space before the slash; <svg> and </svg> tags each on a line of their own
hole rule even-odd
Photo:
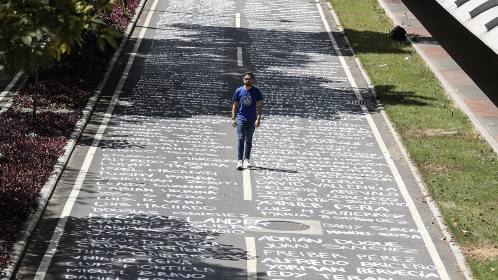
<svg viewBox="0 0 498 280">
<path fill-rule="evenodd" d="M 84 32 L 97 33 L 101 51 L 117 47 L 120 34 L 108 29 L 97 11 L 112 11 L 111 0 L 5 0 L 0 3 L 0 64 L 33 74 L 83 44 Z M 122 0 L 114 0 L 121 1 Z M 114 3 L 116 4 L 116 3 Z M 35 43 L 39 46 L 35 50 Z M 44 47 L 41 47 L 41 44 Z M 74 49 L 73 51 L 77 51 Z"/>
</svg>

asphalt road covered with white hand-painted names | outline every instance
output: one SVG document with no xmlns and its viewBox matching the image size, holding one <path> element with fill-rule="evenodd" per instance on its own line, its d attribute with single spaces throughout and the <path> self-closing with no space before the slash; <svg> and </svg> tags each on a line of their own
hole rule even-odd
<svg viewBox="0 0 498 280">
<path fill-rule="evenodd" d="M 460 279 L 330 18 L 149 1 L 17 278 Z M 264 117 L 238 171 L 246 71 Z"/>
</svg>

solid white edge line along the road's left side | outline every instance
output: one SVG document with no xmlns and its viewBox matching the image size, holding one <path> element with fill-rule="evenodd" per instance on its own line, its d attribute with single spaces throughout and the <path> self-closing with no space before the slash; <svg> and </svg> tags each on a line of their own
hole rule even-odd
<svg viewBox="0 0 498 280">
<path fill-rule="evenodd" d="M 155 0 L 154 3 L 152 4 L 152 7 L 150 8 L 150 12 L 147 15 L 147 19 L 145 20 L 144 26 L 148 26 L 150 19 L 152 18 L 153 11 L 155 10 L 155 6 L 157 6 L 157 4 L 158 4 L 158 1 L 159 0 Z M 64 206 L 62 213 L 60 213 L 59 221 L 58 221 L 57 226 L 56 226 L 54 233 L 52 235 L 52 239 L 50 240 L 50 244 L 47 248 L 47 252 L 45 252 L 45 255 L 43 256 L 43 259 L 40 263 L 40 266 L 38 267 L 38 270 L 37 270 L 36 275 L 35 275 L 35 280 L 45 279 L 45 275 L 47 273 L 48 267 L 50 266 L 50 263 L 52 262 L 52 258 L 55 255 L 55 252 L 57 251 L 57 246 L 59 244 L 60 238 L 64 234 L 64 228 L 66 227 L 66 223 L 69 219 L 69 215 L 71 214 L 71 210 L 73 209 L 74 203 L 76 202 L 76 198 L 78 197 L 78 194 L 82 188 L 83 180 L 86 177 L 86 174 L 88 173 L 88 169 L 90 167 L 91 161 L 94 158 L 94 155 L 95 155 L 95 152 L 97 151 L 100 140 L 102 139 L 102 136 L 104 135 L 106 127 L 107 127 L 109 120 L 112 116 L 112 111 L 114 110 L 114 107 L 117 103 L 117 100 L 119 98 L 119 94 L 120 94 L 121 89 L 124 85 L 124 81 L 126 81 L 126 79 L 128 78 L 128 73 L 133 65 L 133 61 L 135 60 L 135 56 L 137 55 L 138 48 L 140 47 L 140 44 L 142 43 L 142 38 L 144 37 L 146 30 L 147 30 L 147 28 L 142 28 L 142 30 L 140 32 L 138 40 L 133 48 L 132 53 L 130 54 L 130 58 L 128 59 L 127 66 L 123 71 L 121 79 L 119 80 L 119 83 L 116 87 L 116 90 L 114 91 L 114 94 L 112 96 L 109 107 L 107 108 L 107 111 L 104 115 L 104 118 L 102 119 L 102 123 L 99 127 L 99 130 L 97 131 L 95 138 L 94 138 L 94 141 L 92 141 L 91 146 L 88 149 L 88 152 L 86 153 L 86 157 L 85 157 L 85 160 L 83 162 L 83 165 L 81 166 L 81 170 L 78 173 L 78 177 L 76 178 L 76 181 L 73 185 L 73 190 L 71 191 L 71 194 L 69 195 L 69 198 Z"/>
</svg>

